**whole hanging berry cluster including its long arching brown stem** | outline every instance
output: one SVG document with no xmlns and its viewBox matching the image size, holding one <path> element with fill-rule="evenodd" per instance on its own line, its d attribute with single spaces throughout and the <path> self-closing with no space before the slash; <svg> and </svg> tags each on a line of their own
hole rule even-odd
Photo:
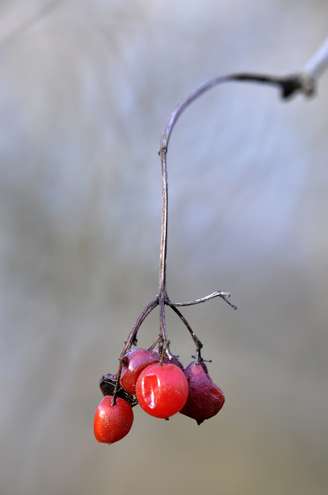
<svg viewBox="0 0 328 495">
<path fill-rule="evenodd" d="M 233 309 L 237 308 L 228 301 L 230 292 L 222 292 L 221 290 L 217 290 L 205 298 L 187 303 L 172 303 L 168 297 L 166 265 L 168 240 L 167 153 L 169 140 L 175 123 L 185 108 L 205 91 L 218 84 L 229 81 L 252 81 L 255 83 L 271 84 L 280 87 L 282 96 L 288 98 L 295 91 L 299 90 L 304 91 L 307 95 L 313 93 L 313 87 L 311 85 L 305 87 L 303 76 L 304 74 L 302 73 L 301 75 L 277 78 L 261 74 L 236 73 L 213 78 L 188 94 L 170 115 L 161 135 L 158 151 L 162 175 L 158 292 L 154 301 L 149 303 L 138 317 L 124 341 L 117 374 L 108 374 L 100 380 L 100 388 L 105 397 L 97 409 L 94 420 L 95 436 L 99 442 L 114 443 L 129 432 L 133 422 L 132 407 L 138 404 L 138 402 L 152 416 L 168 419 L 173 414 L 180 412 L 196 419 L 199 425 L 205 419 L 217 414 L 222 408 L 225 401 L 224 395 L 207 373 L 206 365 L 201 357 L 203 344 L 177 307 L 199 304 L 220 297 Z M 148 350 L 134 349 L 131 351 L 132 345 L 136 345 L 136 334 L 141 324 L 156 306 L 159 306 L 160 311 L 158 338 Z M 183 369 L 177 356 L 172 355 L 170 352 L 170 340 L 168 339 L 165 323 L 165 306 L 169 306 L 183 321 L 196 345 L 196 356 L 193 356 L 195 361 L 188 364 L 185 369 Z M 157 344 L 158 352 L 154 351 Z"/>
</svg>

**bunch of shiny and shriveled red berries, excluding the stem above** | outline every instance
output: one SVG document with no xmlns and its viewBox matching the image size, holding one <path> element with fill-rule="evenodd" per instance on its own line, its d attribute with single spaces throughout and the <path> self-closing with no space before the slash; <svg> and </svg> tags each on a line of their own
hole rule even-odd
<svg viewBox="0 0 328 495">
<path fill-rule="evenodd" d="M 114 385 L 114 377 L 112 381 Z M 161 359 L 158 352 L 146 349 L 133 349 L 124 356 L 120 385 L 121 397 L 112 404 L 113 395 L 107 394 L 110 382 L 106 377 L 101 380 L 105 397 L 94 419 L 99 442 L 114 443 L 127 435 L 133 422 L 132 406 L 137 401 L 151 416 L 169 419 L 180 411 L 199 425 L 217 414 L 225 401 L 203 361 L 193 361 L 183 369 L 176 357 L 170 362 L 168 357 Z"/>
</svg>

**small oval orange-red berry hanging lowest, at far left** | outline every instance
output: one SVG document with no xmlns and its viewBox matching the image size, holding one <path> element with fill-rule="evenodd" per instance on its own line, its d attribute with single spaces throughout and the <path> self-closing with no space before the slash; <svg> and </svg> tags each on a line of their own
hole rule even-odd
<svg viewBox="0 0 328 495">
<path fill-rule="evenodd" d="M 105 395 L 100 402 L 93 423 L 98 442 L 114 443 L 125 437 L 133 423 L 133 411 L 130 404 L 119 397 L 112 406 L 112 395 Z"/>
</svg>

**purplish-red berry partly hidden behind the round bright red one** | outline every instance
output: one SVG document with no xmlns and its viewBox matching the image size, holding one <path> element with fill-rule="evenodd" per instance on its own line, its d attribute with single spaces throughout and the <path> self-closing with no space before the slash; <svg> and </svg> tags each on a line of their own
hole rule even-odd
<svg viewBox="0 0 328 495">
<path fill-rule="evenodd" d="M 122 368 L 120 384 L 132 395 L 135 395 L 135 383 L 140 373 L 150 364 L 158 363 L 160 355 L 146 349 L 132 349 L 124 356 L 126 366 Z"/>
</svg>

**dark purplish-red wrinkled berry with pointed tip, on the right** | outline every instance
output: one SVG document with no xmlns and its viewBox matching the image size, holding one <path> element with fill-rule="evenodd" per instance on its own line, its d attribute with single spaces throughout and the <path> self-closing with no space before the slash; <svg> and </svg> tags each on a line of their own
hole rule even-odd
<svg viewBox="0 0 328 495">
<path fill-rule="evenodd" d="M 220 411 L 225 397 L 208 375 L 203 362 L 194 361 L 188 364 L 184 374 L 189 385 L 189 395 L 180 413 L 196 419 L 200 425 L 204 419 L 209 419 Z"/>
</svg>

